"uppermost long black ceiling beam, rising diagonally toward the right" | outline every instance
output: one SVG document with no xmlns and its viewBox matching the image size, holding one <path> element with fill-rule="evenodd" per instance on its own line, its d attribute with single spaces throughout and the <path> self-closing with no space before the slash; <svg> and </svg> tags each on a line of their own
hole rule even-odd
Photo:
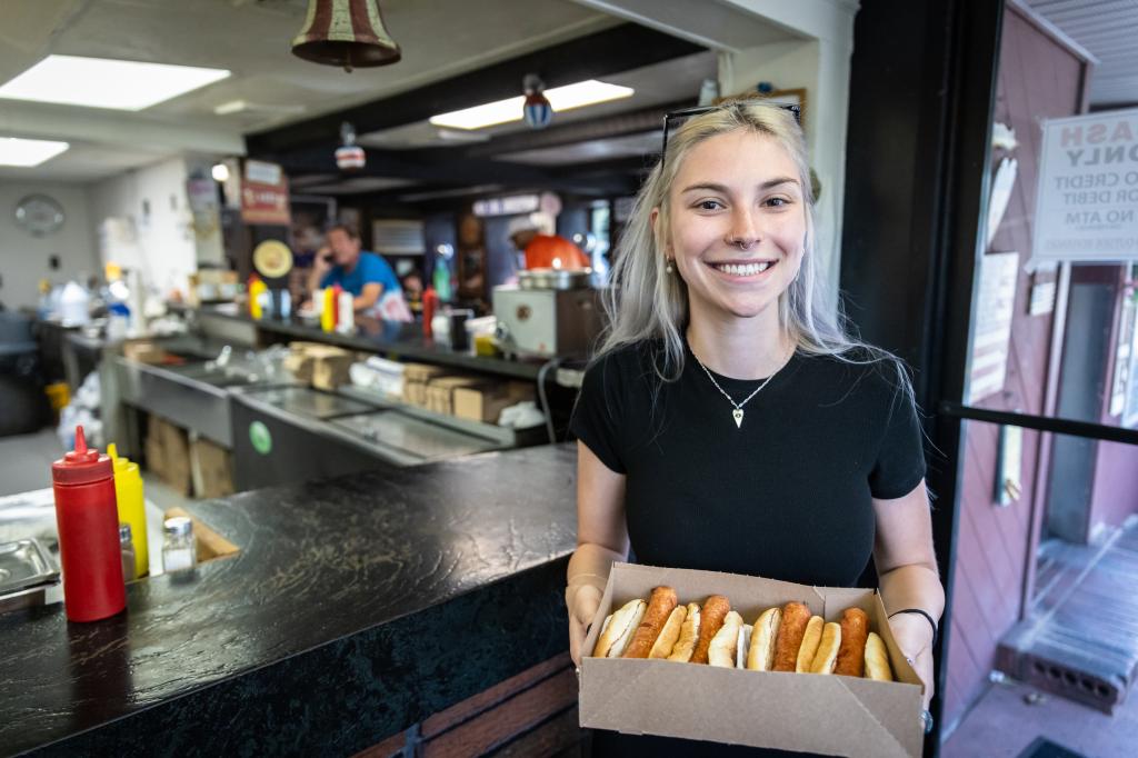
<svg viewBox="0 0 1138 758">
<path fill-rule="evenodd" d="M 445 40 L 439 43 L 445 44 Z M 703 50 L 701 46 L 644 26 L 621 24 L 410 92 L 250 134 L 246 138 L 246 146 L 250 157 L 279 159 L 286 151 L 297 148 L 333 145 L 339 139 L 340 124 L 345 121 L 352 122 L 357 133 L 366 134 L 423 121 L 447 110 L 513 97 L 520 93 L 521 80 L 526 74 L 536 73 L 547 86 L 553 88 Z M 349 75 L 385 74 L 398 75 L 398 65 L 380 68 L 374 73 L 358 71 Z"/>
</svg>

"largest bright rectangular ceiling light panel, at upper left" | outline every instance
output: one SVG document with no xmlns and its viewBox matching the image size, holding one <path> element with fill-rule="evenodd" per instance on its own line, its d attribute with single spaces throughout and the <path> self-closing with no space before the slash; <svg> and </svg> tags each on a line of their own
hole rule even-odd
<svg viewBox="0 0 1138 758">
<path fill-rule="evenodd" d="M 0 86 L 0 98 L 142 110 L 229 74 L 222 68 L 48 56 Z"/>
</svg>

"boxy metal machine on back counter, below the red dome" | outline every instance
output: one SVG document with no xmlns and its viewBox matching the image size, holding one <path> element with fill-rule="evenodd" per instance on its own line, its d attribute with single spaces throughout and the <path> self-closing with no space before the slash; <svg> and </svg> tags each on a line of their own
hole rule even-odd
<svg viewBox="0 0 1138 758">
<path fill-rule="evenodd" d="M 601 291 L 495 287 L 500 347 L 541 357 L 587 355 L 604 328 Z"/>
</svg>

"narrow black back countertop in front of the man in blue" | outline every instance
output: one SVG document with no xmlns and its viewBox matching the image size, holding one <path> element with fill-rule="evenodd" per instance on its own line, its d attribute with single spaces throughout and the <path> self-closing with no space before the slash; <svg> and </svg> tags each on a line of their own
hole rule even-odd
<svg viewBox="0 0 1138 758">
<path fill-rule="evenodd" d="M 295 321 L 274 319 L 255 320 L 244 313 L 233 313 L 231 308 L 201 307 L 197 313 L 201 318 L 221 318 L 255 326 L 262 332 L 292 337 L 315 343 L 328 343 L 354 351 L 381 352 L 396 357 L 424 361 L 442 365 L 452 365 L 469 371 L 480 371 L 512 379 L 537 379 L 543 361 L 508 361 L 504 359 L 471 355 L 465 351 L 454 351 L 447 345 L 437 345 L 423 337 L 422 324 L 401 323 L 397 321 L 380 321 L 378 319 L 356 318 L 354 333 L 327 332 L 316 327 L 308 327 Z"/>
</svg>

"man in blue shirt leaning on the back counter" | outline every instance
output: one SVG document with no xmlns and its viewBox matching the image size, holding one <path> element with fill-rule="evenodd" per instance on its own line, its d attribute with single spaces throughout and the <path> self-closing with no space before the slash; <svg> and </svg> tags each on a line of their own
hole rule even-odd
<svg viewBox="0 0 1138 758">
<path fill-rule="evenodd" d="M 343 224 L 331 226 L 325 241 L 308 275 L 310 291 L 339 285 L 354 296 L 352 305 L 356 313 L 372 311 L 385 295 L 402 294 L 399 280 L 387 261 L 374 253 L 361 252 L 360 234 L 354 229 Z"/>
</svg>

